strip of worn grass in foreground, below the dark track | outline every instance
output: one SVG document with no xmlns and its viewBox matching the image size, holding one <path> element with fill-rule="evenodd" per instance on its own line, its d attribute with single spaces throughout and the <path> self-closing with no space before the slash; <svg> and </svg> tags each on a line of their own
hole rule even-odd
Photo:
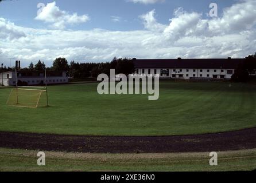
<svg viewBox="0 0 256 183">
<path fill-rule="evenodd" d="M 88 154 L 45 152 L 46 166 L 37 165 L 37 152 L 0 148 L 1 171 L 238 171 L 256 168 L 256 149 L 218 153 L 218 166 L 209 153 Z"/>
</svg>

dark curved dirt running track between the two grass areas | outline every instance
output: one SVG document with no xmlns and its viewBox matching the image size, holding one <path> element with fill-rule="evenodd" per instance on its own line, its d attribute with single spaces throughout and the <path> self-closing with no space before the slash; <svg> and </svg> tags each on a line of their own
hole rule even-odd
<svg viewBox="0 0 256 183">
<path fill-rule="evenodd" d="M 224 133 L 161 137 L 0 132 L 0 147 L 84 153 L 217 152 L 256 148 L 256 128 Z"/>
</svg>

